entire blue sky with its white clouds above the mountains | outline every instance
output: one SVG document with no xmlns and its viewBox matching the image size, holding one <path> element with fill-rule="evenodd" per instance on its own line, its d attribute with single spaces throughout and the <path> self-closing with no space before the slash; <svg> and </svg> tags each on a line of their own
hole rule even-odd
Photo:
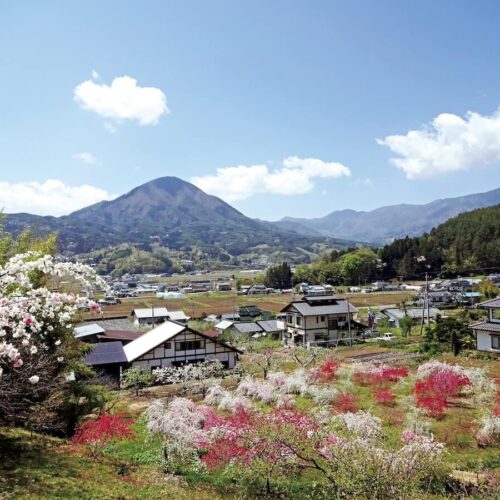
<svg viewBox="0 0 500 500">
<path fill-rule="evenodd" d="M 0 207 L 68 213 L 165 175 L 269 220 L 494 189 L 499 18 L 483 0 L 4 3 Z"/>
</svg>

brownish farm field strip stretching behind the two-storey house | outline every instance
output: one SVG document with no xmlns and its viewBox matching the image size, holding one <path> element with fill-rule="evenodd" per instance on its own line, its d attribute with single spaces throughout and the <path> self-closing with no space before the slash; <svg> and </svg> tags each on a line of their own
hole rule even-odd
<svg viewBox="0 0 500 500">
<path fill-rule="evenodd" d="M 384 292 L 384 293 L 357 293 L 349 294 L 351 303 L 356 307 L 383 307 L 408 300 L 412 296 L 409 292 Z M 298 299 L 300 295 L 295 295 Z M 337 294 L 344 298 L 345 294 Z M 133 297 L 122 299 L 121 304 L 104 306 L 105 315 L 130 314 L 135 308 L 151 306 L 167 306 L 167 309 L 181 309 L 191 317 L 201 317 L 204 314 L 223 314 L 235 310 L 238 306 L 255 304 L 260 309 L 279 312 L 285 305 L 291 302 L 294 296 L 291 294 L 269 294 L 269 295 L 236 295 L 232 293 L 199 293 L 187 295 L 185 299 L 164 300 L 153 296 Z"/>
</svg>

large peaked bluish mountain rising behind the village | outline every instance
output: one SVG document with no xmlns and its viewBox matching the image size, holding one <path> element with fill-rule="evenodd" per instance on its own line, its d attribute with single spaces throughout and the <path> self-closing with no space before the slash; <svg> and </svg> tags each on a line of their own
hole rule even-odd
<svg viewBox="0 0 500 500">
<path fill-rule="evenodd" d="M 308 255 L 323 248 L 345 248 L 355 242 L 304 236 L 246 217 L 221 199 L 176 177 L 143 184 L 111 201 L 103 201 L 63 217 L 8 214 L 5 230 L 18 233 L 58 232 L 65 253 L 80 254 L 132 243 L 149 250 L 152 243 L 171 249 L 195 247 L 222 254 Z M 300 259 L 299 259 L 300 260 Z"/>
</svg>

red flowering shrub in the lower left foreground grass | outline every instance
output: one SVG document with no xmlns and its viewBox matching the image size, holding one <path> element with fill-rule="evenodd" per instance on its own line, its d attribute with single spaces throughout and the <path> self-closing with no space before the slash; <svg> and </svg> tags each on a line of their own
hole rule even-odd
<svg viewBox="0 0 500 500">
<path fill-rule="evenodd" d="M 134 430 L 130 426 L 133 423 L 123 415 L 102 413 L 97 420 L 89 420 L 78 427 L 71 440 L 78 444 L 105 444 L 112 438 L 131 437 Z"/>
</svg>

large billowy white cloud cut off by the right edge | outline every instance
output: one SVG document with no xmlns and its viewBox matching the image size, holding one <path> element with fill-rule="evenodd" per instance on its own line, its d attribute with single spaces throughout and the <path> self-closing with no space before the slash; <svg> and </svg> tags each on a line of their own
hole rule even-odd
<svg viewBox="0 0 500 500">
<path fill-rule="evenodd" d="M 442 113 L 421 130 L 377 142 L 401 157 L 391 162 L 408 179 L 500 164 L 500 110 L 491 116 L 469 112 L 465 118 Z"/>
</svg>

